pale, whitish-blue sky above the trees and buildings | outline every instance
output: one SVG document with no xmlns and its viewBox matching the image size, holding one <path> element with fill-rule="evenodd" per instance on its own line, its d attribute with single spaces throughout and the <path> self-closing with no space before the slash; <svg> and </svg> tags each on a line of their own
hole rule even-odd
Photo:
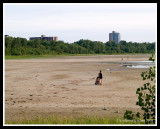
<svg viewBox="0 0 160 129">
<path fill-rule="evenodd" d="M 4 3 L 3 33 L 12 37 L 57 36 L 109 41 L 119 32 L 127 42 L 157 41 L 156 3 Z"/>
</svg>

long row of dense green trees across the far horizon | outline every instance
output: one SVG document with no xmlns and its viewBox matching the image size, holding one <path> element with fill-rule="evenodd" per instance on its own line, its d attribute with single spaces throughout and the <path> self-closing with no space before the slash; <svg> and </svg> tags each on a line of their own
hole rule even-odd
<svg viewBox="0 0 160 129">
<path fill-rule="evenodd" d="M 137 43 L 124 40 L 116 44 L 79 40 L 74 43 L 64 41 L 45 41 L 40 39 L 5 37 L 5 55 L 54 55 L 54 54 L 123 54 L 154 53 L 155 42 Z"/>
</svg>

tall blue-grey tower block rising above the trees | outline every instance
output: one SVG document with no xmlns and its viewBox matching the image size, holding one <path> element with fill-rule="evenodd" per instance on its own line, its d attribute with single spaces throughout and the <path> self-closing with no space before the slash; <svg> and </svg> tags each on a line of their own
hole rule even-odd
<svg viewBox="0 0 160 129">
<path fill-rule="evenodd" d="M 120 42 L 120 33 L 112 31 L 112 33 L 109 33 L 109 41 L 115 41 L 115 43 Z"/>
</svg>

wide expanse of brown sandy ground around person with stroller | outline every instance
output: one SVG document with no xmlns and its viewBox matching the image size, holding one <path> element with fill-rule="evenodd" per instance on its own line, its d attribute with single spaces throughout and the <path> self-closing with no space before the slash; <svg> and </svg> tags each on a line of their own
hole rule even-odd
<svg viewBox="0 0 160 129">
<path fill-rule="evenodd" d="M 125 61 L 148 61 L 145 55 L 64 56 L 5 60 L 5 120 L 38 116 L 97 115 L 123 118 L 140 111 L 136 89 L 146 68 Z M 123 60 L 122 60 L 123 58 Z M 95 79 L 102 70 L 102 85 Z"/>
</svg>

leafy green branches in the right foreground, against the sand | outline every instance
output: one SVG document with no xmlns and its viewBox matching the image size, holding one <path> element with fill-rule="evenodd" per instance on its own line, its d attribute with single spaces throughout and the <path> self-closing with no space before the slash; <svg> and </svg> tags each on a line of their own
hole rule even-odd
<svg viewBox="0 0 160 129">
<path fill-rule="evenodd" d="M 155 56 L 152 54 L 149 60 L 155 61 Z M 143 84 L 140 88 L 137 88 L 136 94 L 138 94 L 138 101 L 136 105 L 140 106 L 141 110 L 144 112 L 143 119 L 146 124 L 155 123 L 155 66 L 150 67 L 146 72 L 142 72 L 141 77 L 145 81 L 148 80 L 148 82 Z M 126 111 L 124 118 L 136 119 L 133 118 L 134 116 L 131 116 L 131 113 L 132 112 Z M 140 117 L 140 113 L 137 113 L 136 117 Z"/>
</svg>

